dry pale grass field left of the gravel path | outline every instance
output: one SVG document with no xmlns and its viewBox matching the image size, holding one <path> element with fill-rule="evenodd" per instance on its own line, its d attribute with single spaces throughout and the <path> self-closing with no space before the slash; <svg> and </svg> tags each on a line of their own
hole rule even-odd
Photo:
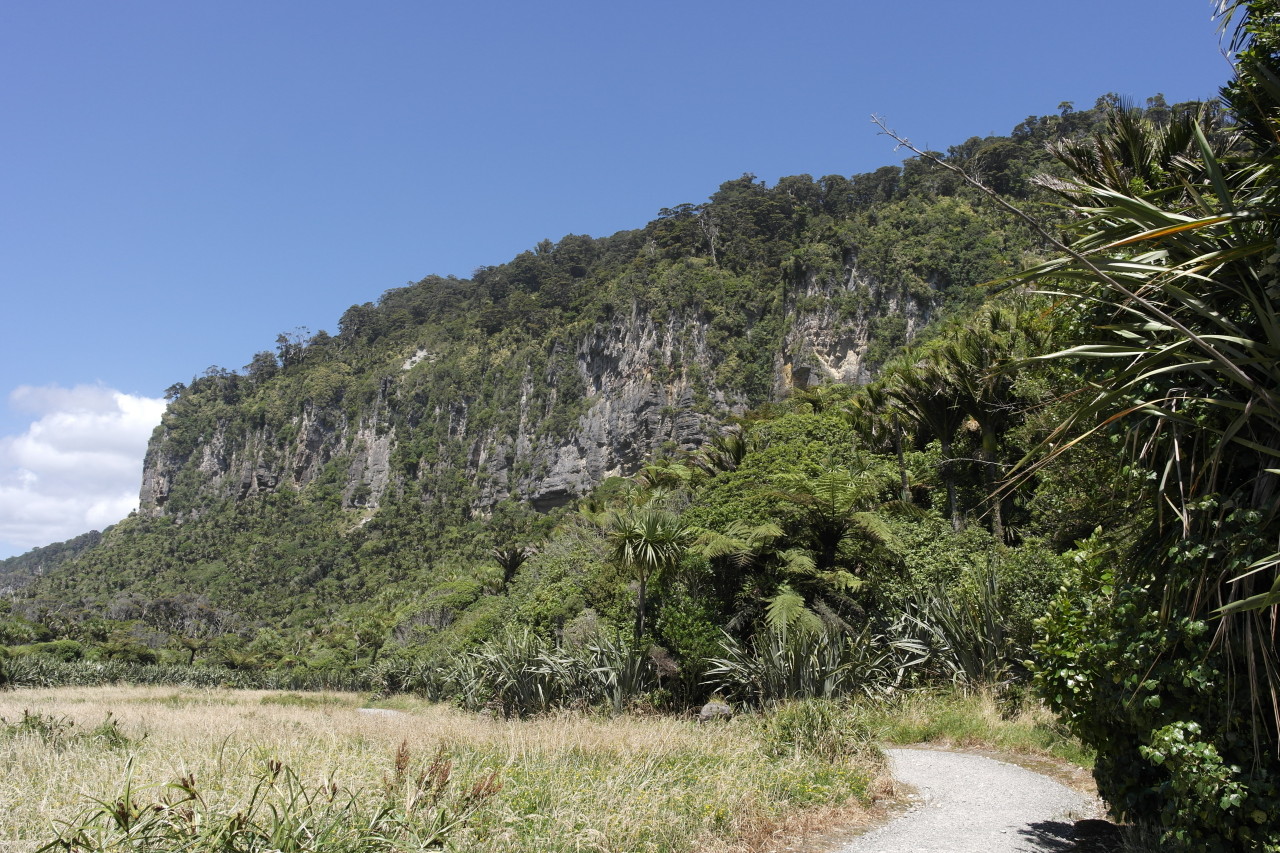
<svg viewBox="0 0 1280 853">
<path fill-rule="evenodd" d="M 411 699 L 396 713 L 360 704 L 180 688 L 0 693 L 0 852 L 59 836 L 58 849 L 174 849 L 147 840 L 160 829 L 192 850 L 233 849 L 233 836 L 253 850 L 767 850 L 863 820 L 884 784 L 874 749 L 788 754 L 759 719 L 506 721 Z"/>
</svg>

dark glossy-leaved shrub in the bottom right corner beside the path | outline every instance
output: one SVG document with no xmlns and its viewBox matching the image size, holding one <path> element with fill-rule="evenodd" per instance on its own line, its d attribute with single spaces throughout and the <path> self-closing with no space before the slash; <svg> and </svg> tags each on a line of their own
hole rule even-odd
<svg viewBox="0 0 1280 853">
<path fill-rule="evenodd" d="M 1155 578 L 1114 588 L 1093 570 L 1097 588 L 1064 590 L 1046 617 L 1036 683 L 1097 751 L 1098 793 L 1161 827 L 1164 849 L 1280 850 L 1280 771 L 1228 686 L 1233 649 L 1207 621 L 1165 615 Z"/>
</svg>

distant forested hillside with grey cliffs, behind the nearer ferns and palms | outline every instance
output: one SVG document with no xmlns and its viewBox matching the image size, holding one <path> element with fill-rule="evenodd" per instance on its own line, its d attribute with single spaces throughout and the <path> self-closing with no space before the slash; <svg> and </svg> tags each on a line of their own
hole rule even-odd
<svg viewBox="0 0 1280 853">
<path fill-rule="evenodd" d="M 1064 105 L 946 158 L 1030 201 L 1044 143 L 1115 104 Z M 170 388 L 137 516 L 13 612 L 74 637 L 168 633 L 148 611 L 174 599 L 246 640 L 264 619 L 315 631 L 369 611 L 390 628 L 416 616 L 381 602 L 477 584 L 493 548 L 532 544 L 548 510 L 609 476 L 694 452 L 796 386 L 868 382 L 1038 251 L 911 159 L 772 187 L 744 175 L 634 232 L 388 291 L 335 334 L 285 333 L 242 371 Z"/>
</svg>

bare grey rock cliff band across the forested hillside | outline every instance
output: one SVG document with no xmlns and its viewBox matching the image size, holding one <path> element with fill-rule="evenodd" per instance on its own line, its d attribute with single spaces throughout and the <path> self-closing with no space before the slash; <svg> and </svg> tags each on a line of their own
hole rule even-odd
<svg viewBox="0 0 1280 853">
<path fill-rule="evenodd" d="M 910 296 L 846 269 L 794 287 L 781 336 L 751 343 L 772 353 L 769 393 L 781 398 L 794 384 L 867 382 L 877 323 L 888 318 L 909 339 L 928 316 Z M 140 511 L 182 515 L 193 496 L 246 500 L 321 479 L 337 482 L 348 508 L 404 494 L 430 503 L 456 491 L 460 474 L 472 512 L 507 498 L 562 506 L 658 453 L 696 450 L 728 415 L 764 402 L 733 389 L 709 332 L 699 310 L 654 318 L 632 304 L 557 342 L 547 365 L 499 365 L 516 378 L 488 386 L 442 380 L 433 371 L 448 352 L 419 345 L 394 353 L 358 407 L 307 400 L 273 421 L 243 403 L 228 416 L 225 406 L 178 401 L 148 447 Z"/>
</svg>

